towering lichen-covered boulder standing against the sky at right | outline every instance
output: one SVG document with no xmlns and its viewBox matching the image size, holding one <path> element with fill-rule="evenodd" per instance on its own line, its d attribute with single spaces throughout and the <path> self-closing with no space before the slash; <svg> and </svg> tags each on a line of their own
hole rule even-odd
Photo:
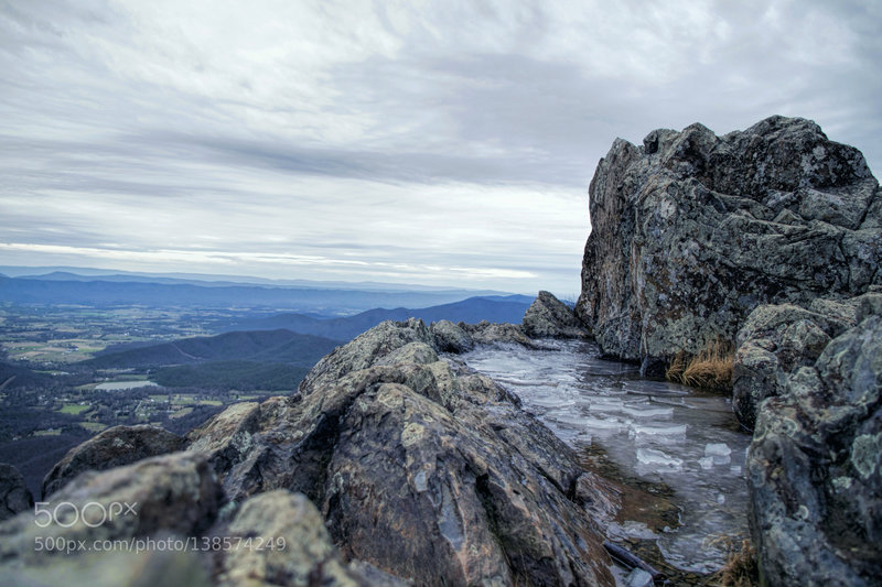
<svg viewBox="0 0 882 587">
<path fill-rule="evenodd" d="M 882 191 L 858 150 L 808 120 L 616 140 L 590 198 L 576 309 L 622 359 L 695 355 L 734 341 L 761 304 L 882 283 Z"/>
</svg>

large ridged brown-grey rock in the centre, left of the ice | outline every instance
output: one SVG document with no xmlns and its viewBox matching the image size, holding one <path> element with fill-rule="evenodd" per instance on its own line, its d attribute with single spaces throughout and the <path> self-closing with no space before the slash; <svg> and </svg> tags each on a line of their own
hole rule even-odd
<svg viewBox="0 0 882 587">
<path fill-rule="evenodd" d="M 574 454 L 492 380 L 439 360 L 418 320 L 329 355 L 299 393 L 191 435 L 236 500 L 306 494 L 347 557 L 419 585 L 607 585 Z"/>
</svg>

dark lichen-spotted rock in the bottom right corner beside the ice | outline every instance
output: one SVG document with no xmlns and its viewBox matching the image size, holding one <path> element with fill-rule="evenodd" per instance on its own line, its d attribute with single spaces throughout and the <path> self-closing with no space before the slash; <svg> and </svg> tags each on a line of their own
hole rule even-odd
<svg viewBox="0 0 882 587">
<path fill-rule="evenodd" d="M 774 313 L 766 312 L 774 317 Z M 788 328 L 827 336 L 785 307 Z M 756 320 L 760 322 L 760 320 Z M 786 330 L 786 328 L 785 328 Z M 824 335 L 824 336 L 822 336 Z M 882 316 L 863 319 L 789 377 L 756 416 L 747 455 L 751 525 L 770 585 L 878 585 L 882 576 Z M 779 366 L 782 362 L 779 361 Z M 783 381 L 782 381 L 783 380 Z"/>
</svg>

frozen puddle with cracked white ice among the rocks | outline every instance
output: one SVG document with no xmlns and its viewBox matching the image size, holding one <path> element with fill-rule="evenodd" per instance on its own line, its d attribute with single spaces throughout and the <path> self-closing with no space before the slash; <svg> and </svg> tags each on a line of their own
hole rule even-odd
<svg viewBox="0 0 882 587">
<path fill-rule="evenodd" d="M 593 344 L 556 345 L 559 350 L 484 347 L 460 359 L 520 396 L 574 448 L 599 445 L 625 475 L 674 490 L 682 525 L 654 533 L 626 521 L 615 532 L 657 539 L 667 562 L 682 570 L 720 568 L 720 539 L 747 534 L 750 436 L 739 430 L 730 401 L 639 379 L 636 367 L 599 359 Z"/>
</svg>

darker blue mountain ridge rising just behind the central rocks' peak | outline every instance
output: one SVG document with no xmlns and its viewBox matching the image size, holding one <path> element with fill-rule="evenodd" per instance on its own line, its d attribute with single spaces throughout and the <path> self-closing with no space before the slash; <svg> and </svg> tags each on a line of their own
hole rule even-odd
<svg viewBox="0 0 882 587">
<path fill-rule="evenodd" d="M 302 314 L 279 314 L 267 318 L 238 320 L 227 330 L 273 330 L 284 328 L 335 340 L 349 340 L 384 320 L 420 318 L 427 324 L 448 319 L 451 322 L 478 323 L 509 322 L 519 324 L 531 298 L 526 295 L 470 297 L 452 304 L 408 309 L 374 308 L 343 318 L 313 318 Z"/>
</svg>

